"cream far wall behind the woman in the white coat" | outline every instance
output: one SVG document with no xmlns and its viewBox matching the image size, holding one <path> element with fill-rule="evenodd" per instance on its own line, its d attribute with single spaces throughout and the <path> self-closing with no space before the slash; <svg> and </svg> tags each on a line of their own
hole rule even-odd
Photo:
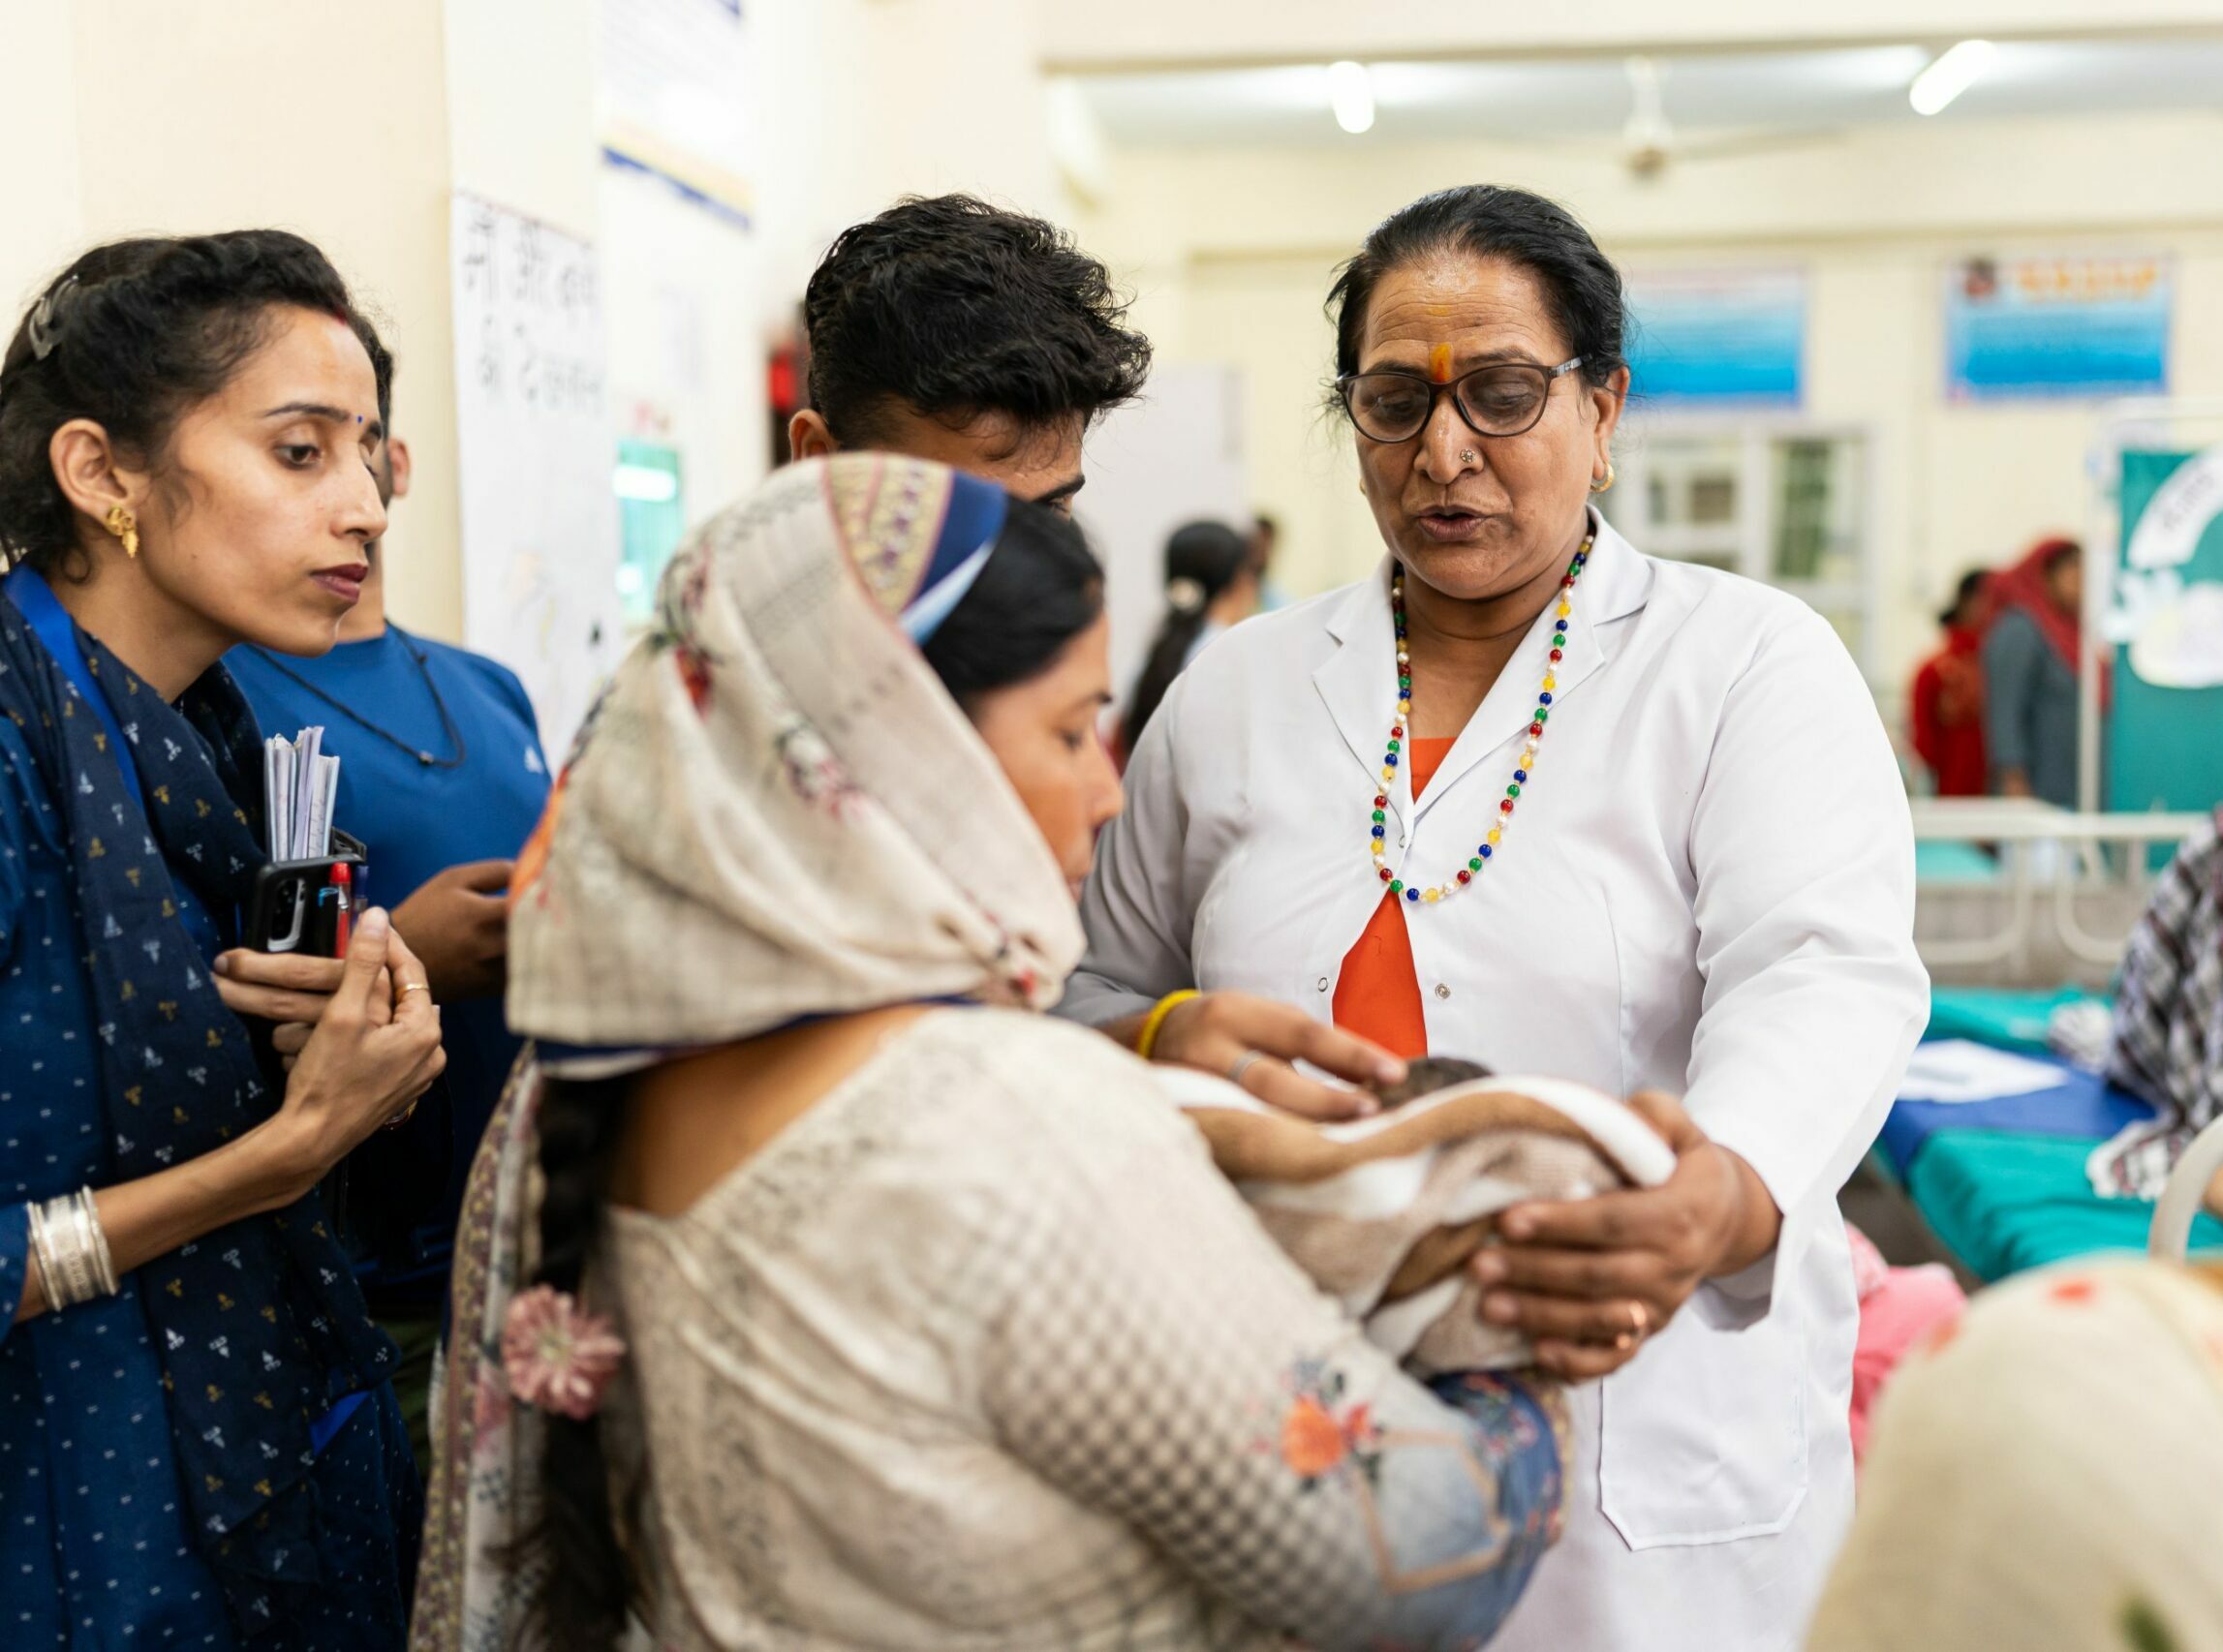
<svg viewBox="0 0 2223 1652">
<path fill-rule="evenodd" d="M 1941 289 L 1972 251 L 2167 251 L 2172 374 L 2223 394 L 2223 116 L 1996 122 L 1861 133 L 1638 185 L 1547 149 L 1120 151 L 1085 242 L 1138 289 L 1165 360 L 1247 378 L 1258 502 L 1283 518 L 1280 580 L 1356 578 L 1380 543 L 1349 438 L 1318 416 L 1334 262 L 1396 205 L 1449 182 L 1518 182 L 1572 205 L 1625 267 L 1796 262 L 1810 271 L 1807 414 L 1874 436 L 1878 687 L 1932 636 L 1958 571 L 2043 531 L 2081 531 L 2094 498 L 2090 402 L 1947 407 Z M 1643 438 L 1638 418 L 1629 431 Z"/>
</svg>

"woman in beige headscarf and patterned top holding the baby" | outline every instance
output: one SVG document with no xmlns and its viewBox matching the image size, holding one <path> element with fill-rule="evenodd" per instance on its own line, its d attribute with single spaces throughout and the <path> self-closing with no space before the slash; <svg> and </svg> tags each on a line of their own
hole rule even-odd
<svg viewBox="0 0 2223 1652">
<path fill-rule="evenodd" d="M 1496 1630 L 1558 1385 L 1407 1374 L 1158 1074 L 1031 1014 L 1107 698 L 1078 529 L 938 465 L 798 465 L 674 560 L 520 860 L 416 1645 Z"/>
</svg>

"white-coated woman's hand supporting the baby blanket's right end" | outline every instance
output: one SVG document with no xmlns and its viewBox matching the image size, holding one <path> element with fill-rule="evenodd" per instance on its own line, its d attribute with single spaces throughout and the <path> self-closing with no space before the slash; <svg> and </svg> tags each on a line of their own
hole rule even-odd
<svg viewBox="0 0 2223 1652">
<path fill-rule="evenodd" d="M 1674 1176 L 1572 1203 L 1514 1205 L 1501 1245 L 1472 1267 L 1483 1316 L 1514 1325 L 1554 1376 L 1618 1370 L 1707 1278 L 1774 1250 L 1783 1223 L 1758 1172 L 1712 1141 L 1669 1096 L 1632 1096 L 1676 1152 Z"/>
</svg>

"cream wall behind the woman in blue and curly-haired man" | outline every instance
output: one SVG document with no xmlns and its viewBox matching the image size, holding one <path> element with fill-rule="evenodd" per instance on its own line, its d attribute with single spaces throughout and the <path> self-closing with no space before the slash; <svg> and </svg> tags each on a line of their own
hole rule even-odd
<svg viewBox="0 0 2223 1652">
<path fill-rule="evenodd" d="M 747 18 L 734 96 L 760 109 L 760 162 L 736 231 L 602 167 L 594 0 L 0 0 L 7 325 L 109 236 L 267 222 L 322 245 L 400 360 L 416 487 L 389 536 L 393 609 L 458 636 L 453 189 L 602 247 L 618 427 L 678 438 L 696 516 L 765 471 L 765 356 L 836 231 L 905 191 L 1063 207 L 1031 0 L 751 0 Z M 694 360 L 671 342 L 682 309 Z"/>
</svg>

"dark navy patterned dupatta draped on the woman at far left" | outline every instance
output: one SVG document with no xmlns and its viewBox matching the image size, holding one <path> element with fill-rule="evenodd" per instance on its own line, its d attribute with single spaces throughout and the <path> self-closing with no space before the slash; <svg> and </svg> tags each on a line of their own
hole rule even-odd
<svg viewBox="0 0 2223 1652">
<path fill-rule="evenodd" d="M 0 587 L 0 716 L 22 729 L 62 823 L 98 1016 L 109 1178 L 136 1181 L 233 1141 L 282 1094 L 218 996 L 173 883 L 182 876 L 231 938 L 229 914 L 265 858 L 260 787 L 249 780 L 260 738 L 222 667 L 171 707 L 71 627 L 129 747 L 113 749 L 107 718 L 18 598 L 53 603 L 27 569 Z M 124 1290 L 138 1292 L 162 1361 L 193 1541 L 253 1639 L 298 1616 L 329 1581 L 307 1481 L 311 1427 L 333 1401 L 382 1381 L 393 1345 L 371 1323 L 316 1194 L 158 1256 Z"/>
</svg>

